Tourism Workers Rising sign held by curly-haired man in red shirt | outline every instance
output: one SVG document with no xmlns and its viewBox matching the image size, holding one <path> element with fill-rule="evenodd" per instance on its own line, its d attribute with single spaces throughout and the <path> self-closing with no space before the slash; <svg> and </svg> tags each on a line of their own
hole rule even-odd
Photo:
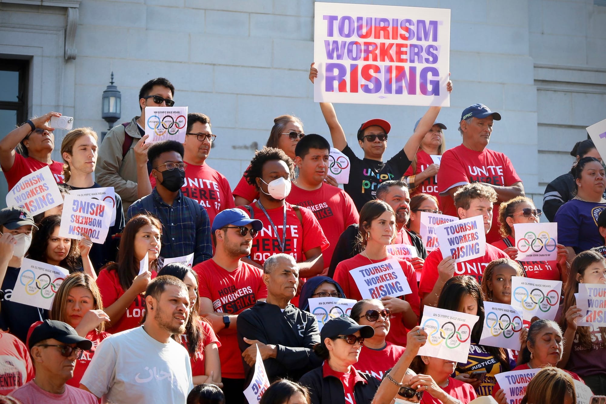
<svg viewBox="0 0 606 404">
<path fill-rule="evenodd" d="M 471 218 L 452 221 L 436 227 L 442 257 L 450 255 L 454 262 L 473 260 L 486 254 L 486 234 L 484 218 Z"/>
</svg>

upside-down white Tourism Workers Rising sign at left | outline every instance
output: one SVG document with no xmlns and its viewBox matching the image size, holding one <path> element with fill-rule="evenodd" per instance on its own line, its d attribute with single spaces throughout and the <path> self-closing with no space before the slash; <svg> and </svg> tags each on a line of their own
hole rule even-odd
<svg viewBox="0 0 606 404">
<path fill-rule="evenodd" d="M 65 195 L 59 237 L 80 240 L 88 234 L 93 243 L 103 244 L 112 221 L 112 205 L 79 195 Z"/>
</svg>

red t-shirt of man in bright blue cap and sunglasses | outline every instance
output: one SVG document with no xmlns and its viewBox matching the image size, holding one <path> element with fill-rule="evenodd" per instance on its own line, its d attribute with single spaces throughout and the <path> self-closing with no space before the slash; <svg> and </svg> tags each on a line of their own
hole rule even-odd
<svg viewBox="0 0 606 404">
<path fill-rule="evenodd" d="M 240 314 L 255 305 L 256 301 L 267 297 L 267 288 L 261 278 L 261 269 L 240 261 L 234 271 L 226 271 L 214 260 L 207 260 L 193 267 L 198 274 L 198 293 L 209 298 L 216 312 Z M 238 335 L 221 334 L 221 375 L 230 379 L 244 379 L 242 356 L 238 346 Z"/>
</svg>

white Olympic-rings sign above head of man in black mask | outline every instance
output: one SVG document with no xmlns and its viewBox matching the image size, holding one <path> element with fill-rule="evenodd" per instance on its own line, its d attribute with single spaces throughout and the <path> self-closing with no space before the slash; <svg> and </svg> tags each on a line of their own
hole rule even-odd
<svg viewBox="0 0 606 404">
<path fill-rule="evenodd" d="M 187 107 L 145 107 L 145 143 L 162 140 L 185 141 Z"/>
</svg>

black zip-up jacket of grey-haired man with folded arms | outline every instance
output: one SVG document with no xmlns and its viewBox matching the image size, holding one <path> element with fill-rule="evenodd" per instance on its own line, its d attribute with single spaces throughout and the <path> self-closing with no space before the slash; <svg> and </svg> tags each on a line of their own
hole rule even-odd
<svg viewBox="0 0 606 404">
<path fill-rule="evenodd" d="M 322 365 L 322 359 L 313 352 L 320 342 L 316 317 L 288 303 L 284 312 L 276 305 L 257 301 L 255 306 L 238 315 L 238 346 L 244 352 L 248 345 L 244 337 L 266 345 L 276 345 L 275 358 L 263 361 L 270 382 L 287 377 L 299 380 L 306 372 Z M 251 368 L 244 363 L 244 375 L 248 380 Z"/>
</svg>

